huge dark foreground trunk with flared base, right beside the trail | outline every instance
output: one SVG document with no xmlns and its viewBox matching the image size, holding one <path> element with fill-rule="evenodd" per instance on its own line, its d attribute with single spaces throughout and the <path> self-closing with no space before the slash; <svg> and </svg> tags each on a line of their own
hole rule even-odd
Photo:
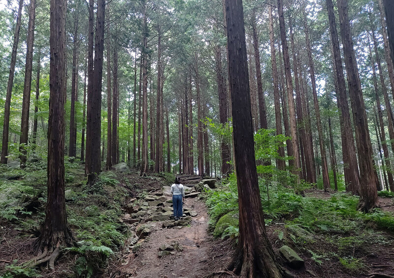
<svg viewBox="0 0 394 278">
<path fill-rule="evenodd" d="M 280 278 L 282 271 L 265 232 L 258 186 L 242 0 L 225 0 L 225 18 L 240 212 L 239 241 L 230 270 L 242 278 Z"/>
</svg>

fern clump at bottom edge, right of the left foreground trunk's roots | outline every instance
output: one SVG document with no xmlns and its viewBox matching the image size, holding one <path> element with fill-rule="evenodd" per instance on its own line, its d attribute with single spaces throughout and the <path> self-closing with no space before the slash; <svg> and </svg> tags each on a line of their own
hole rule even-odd
<svg viewBox="0 0 394 278">
<path fill-rule="evenodd" d="M 91 241 L 77 242 L 78 247 L 66 248 L 78 255 L 75 261 L 75 272 L 78 276 L 94 277 L 97 271 L 105 267 L 113 251 L 105 246 L 95 246 Z"/>
</svg>

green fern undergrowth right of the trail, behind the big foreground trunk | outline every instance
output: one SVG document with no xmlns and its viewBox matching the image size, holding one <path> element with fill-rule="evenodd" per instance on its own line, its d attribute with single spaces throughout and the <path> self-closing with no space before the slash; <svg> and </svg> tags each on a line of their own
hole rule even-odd
<svg viewBox="0 0 394 278">
<path fill-rule="evenodd" d="M 221 217 L 238 210 L 236 178 L 231 175 L 226 186 L 206 192 L 213 232 Z M 293 188 L 259 180 L 265 225 L 272 226 L 277 237 L 273 244 L 287 244 L 310 257 L 316 264 L 336 262 L 351 273 L 365 270 L 363 257 L 370 249 L 393 244 L 394 215 L 379 208 L 369 214 L 357 210 L 359 198 L 346 193 L 333 194 L 329 199 L 302 197 Z M 222 221 L 223 222 L 223 221 Z M 221 223 L 223 226 L 223 223 Z M 228 223 L 216 237 L 238 236 L 238 225 Z"/>
</svg>

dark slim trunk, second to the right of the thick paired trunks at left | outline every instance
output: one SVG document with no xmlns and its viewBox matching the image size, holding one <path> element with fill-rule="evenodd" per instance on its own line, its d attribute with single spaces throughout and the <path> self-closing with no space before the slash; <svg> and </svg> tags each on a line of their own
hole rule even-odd
<svg viewBox="0 0 394 278">
<path fill-rule="evenodd" d="M 114 61 L 113 61 L 113 89 L 112 89 L 112 165 L 119 163 L 119 143 L 118 143 L 118 46 L 114 43 Z"/>
</svg>

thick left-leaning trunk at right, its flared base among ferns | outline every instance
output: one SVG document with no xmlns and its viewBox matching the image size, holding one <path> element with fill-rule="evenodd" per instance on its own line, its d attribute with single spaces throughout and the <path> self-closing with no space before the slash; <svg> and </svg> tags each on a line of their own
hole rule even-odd
<svg viewBox="0 0 394 278">
<path fill-rule="evenodd" d="M 353 41 L 350 33 L 348 1 L 338 0 L 337 3 L 343 53 L 345 56 L 347 80 L 351 96 L 353 115 L 355 118 L 356 142 L 360 161 L 359 166 L 361 174 L 361 191 L 359 208 L 364 212 L 369 212 L 371 209 L 376 207 L 378 202 L 375 173 L 372 163 L 372 144 L 369 136 L 365 104 L 362 96 L 360 77 L 356 64 L 356 56 L 353 50 Z"/>
</svg>

